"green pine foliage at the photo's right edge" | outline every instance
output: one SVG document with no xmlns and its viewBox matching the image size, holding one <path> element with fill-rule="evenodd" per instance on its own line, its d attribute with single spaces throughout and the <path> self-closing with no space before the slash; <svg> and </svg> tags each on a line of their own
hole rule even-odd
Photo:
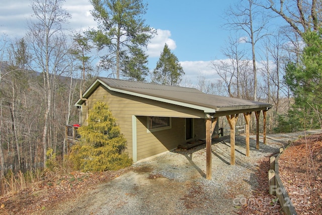
<svg viewBox="0 0 322 215">
<path fill-rule="evenodd" d="M 305 32 L 303 40 L 306 47 L 299 62 L 286 67 L 285 82 L 295 100 L 288 114 L 292 122 L 316 128 L 319 123 L 312 107 L 322 111 L 322 28 Z"/>
</svg>

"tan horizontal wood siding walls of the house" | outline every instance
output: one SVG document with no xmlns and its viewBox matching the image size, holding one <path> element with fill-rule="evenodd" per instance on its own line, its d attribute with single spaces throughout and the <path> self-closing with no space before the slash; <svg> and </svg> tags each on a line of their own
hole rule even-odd
<svg viewBox="0 0 322 215">
<path fill-rule="evenodd" d="M 164 102 L 144 99 L 136 96 L 113 92 L 99 86 L 88 98 L 88 107 L 82 105 L 82 122 L 87 125 L 88 109 L 93 108 L 97 101 L 106 102 L 121 132 L 127 139 L 127 152 L 133 157 L 132 116 L 136 116 L 137 160 L 148 158 L 178 147 L 185 140 L 185 118 L 194 119 L 194 134 L 197 138 L 205 136 L 205 114 L 194 110 Z M 147 116 L 172 117 L 171 129 L 147 131 Z M 199 118 L 199 119 L 198 119 Z"/>
</svg>

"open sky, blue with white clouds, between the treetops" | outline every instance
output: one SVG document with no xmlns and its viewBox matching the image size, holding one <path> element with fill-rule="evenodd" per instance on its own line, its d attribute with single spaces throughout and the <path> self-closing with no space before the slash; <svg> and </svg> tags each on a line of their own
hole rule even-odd
<svg viewBox="0 0 322 215">
<path fill-rule="evenodd" d="M 210 0 L 149 0 L 147 13 L 143 16 L 146 24 L 158 34 L 148 45 L 149 68 L 155 67 L 165 43 L 178 57 L 186 75 L 185 80 L 195 83 L 198 76 L 214 81 L 214 71 L 209 63 L 221 59 L 220 52 L 229 32 L 220 26 L 224 23 L 224 10 L 234 1 Z M 20 38 L 27 30 L 27 19 L 32 10 L 30 1 L 0 0 L 0 35 Z M 88 0 L 66 0 L 64 8 L 72 15 L 69 28 L 88 29 L 96 26 Z"/>
</svg>

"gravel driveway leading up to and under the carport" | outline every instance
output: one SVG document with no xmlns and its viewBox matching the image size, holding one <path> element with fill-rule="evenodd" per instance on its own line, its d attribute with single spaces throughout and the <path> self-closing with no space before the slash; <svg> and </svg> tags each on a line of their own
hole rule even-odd
<svg viewBox="0 0 322 215">
<path fill-rule="evenodd" d="M 320 130 L 319 130 L 320 131 Z M 132 171 L 97 186 L 82 196 L 48 208 L 48 214 L 234 214 L 238 197 L 256 187 L 257 162 L 278 151 L 299 133 L 268 135 L 267 145 L 251 136 L 250 157 L 245 137 L 236 136 L 235 165 L 230 163 L 230 137 L 213 139 L 212 179 L 205 179 L 206 149 L 176 150 L 136 163 Z M 304 134 L 303 134 L 304 135 Z"/>
</svg>

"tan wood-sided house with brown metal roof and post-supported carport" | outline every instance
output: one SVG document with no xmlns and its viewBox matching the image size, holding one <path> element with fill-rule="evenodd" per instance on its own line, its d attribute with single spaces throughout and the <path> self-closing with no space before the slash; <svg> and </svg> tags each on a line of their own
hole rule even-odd
<svg viewBox="0 0 322 215">
<path fill-rule="evenodd" d="M 133 162 L 174 150 L 187 141 L 206 139 L 207 178 L 211 176 L 211 137 L 216 135 L 218 117 L 226 116 L 230 125 L 233 165 L 238 114 L 244 114 L 249 134 L 250 114 L 255 112 L 259 126 L 260 112 L 263 111 L 265 121 L 266 111 L 272 107 L 262 102 L 208 95 L 193 88 L 108 78 L 98 78 L 82 97 L 75 104 L 82 111 L 79 124 L 87 125 L 88 111 L 97 101 L 106 102 L 127 139 L 127 152 Z"/>
</svg>

